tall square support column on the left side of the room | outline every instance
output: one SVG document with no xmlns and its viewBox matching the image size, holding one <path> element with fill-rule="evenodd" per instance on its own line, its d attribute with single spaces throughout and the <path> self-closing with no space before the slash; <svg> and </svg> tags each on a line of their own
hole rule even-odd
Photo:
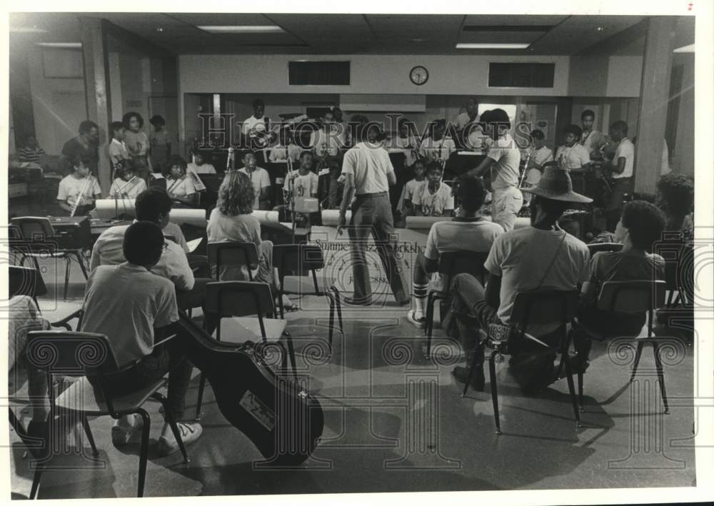
<svg viewBox="0 0 714 506">
<path fill-rule="evenodd" d="M 84 88 L 87 118 L 99 125 L 99 169 L 97 177 L 104 196 L 111 187 L 109 137 L 111 98 L 109 94 L 109 53 L 106 44 L 106 21 L 80 17 L 82 53 L 84 55 Z"/>
</svg>

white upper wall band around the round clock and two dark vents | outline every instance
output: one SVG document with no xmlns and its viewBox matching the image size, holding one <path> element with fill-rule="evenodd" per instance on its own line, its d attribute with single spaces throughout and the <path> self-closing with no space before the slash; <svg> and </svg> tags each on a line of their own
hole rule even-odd
<svg viewBox="0 0 714 506">
<path fill-rule="evenodd" d="M 288 61 L 351 61 L 349 86 L 289 86 Z M 555 63 L 553 88 L 488 88 L 489 62 Z M 568 95 L 568 56 L 437 55 L 182 55 L 183 93 L 400 93 L 483 95 Z M 423 86 L 409 71 L 423 65 Z M 638 86 L 639 88 L 639 86 Z"/>
</svg>

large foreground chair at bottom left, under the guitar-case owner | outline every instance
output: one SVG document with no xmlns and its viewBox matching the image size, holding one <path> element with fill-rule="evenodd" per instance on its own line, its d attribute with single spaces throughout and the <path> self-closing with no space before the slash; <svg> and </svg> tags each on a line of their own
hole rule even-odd
<svg viewBox="0 0 714 506">
<path fill-rule="evenodd" d="M 94 443 L 94 437 L 89 427 L 88 416 L 109 415 L 115 420 L 123 415 L 136 414 L 144 420 L 141 432 L 141 451 L 139 453 L 139 490 L 138 497 L 144 496 L 146 481 L 146 463 L 149 454 L 149 432 L 151 419 L 149 413 L 142 408 L 149 399 L 158 400 L 164 406 L 164 416 L 169 422 L 178 447 L 183 455 L 183 462 L 188 463 L 186 447 L 178 432 L 176 420 L 171 417 L 171 410 L 164 395 L 159 393 L 167 380 L 161 378 L 146 388 L 135 393 L 113 397 L 106 388 L 106 375 L 117 373 L 122 369 L 116 363 L 116 358 L 109 345 L 109 338 L 102 334 L 84 332 L 37 331 L 28 334 L 27 358 L 31 365 L 47 374 L 50 399 L 54 400 L 51 407 L 59 410 L 61 416 L 79 415 L 84 431 L 94 455 L 99 455 Z M 131 365 L 127 366 L 131 367 Z M 80 379 L 72 383 L 64 392 L 55 396 L 52 378 L 54 375 L 71 375 Z M 87 375 L 96 377 L 98 386 L 89 382 Z M 50 420 L 54 418 L 51 415 Z M 50 431 L 51 432 L 51 431 Z M 38 462 L 32 484 L 31 496 L 35 497 L 39 480 L 46 462 Z"/>
</svg>

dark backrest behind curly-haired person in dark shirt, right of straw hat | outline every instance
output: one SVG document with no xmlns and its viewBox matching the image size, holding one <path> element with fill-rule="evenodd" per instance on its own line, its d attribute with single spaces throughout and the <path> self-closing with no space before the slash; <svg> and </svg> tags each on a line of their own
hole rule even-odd
<svg viewBox="0 0 714 506">
<path fill-rule="evenodd" d="M 665 305 L 666 281 L 605 281 L 598 308 L 616 313 L 645 313 Z"/>
</svg>

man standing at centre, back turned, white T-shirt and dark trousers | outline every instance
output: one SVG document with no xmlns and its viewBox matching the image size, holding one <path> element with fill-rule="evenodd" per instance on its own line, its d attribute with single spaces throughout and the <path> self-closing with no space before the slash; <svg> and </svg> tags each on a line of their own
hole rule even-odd
<svg viewBox="0 0 714 506">
<path fill-rule="evenodd" d="M 366 116 L 353 116 L 351 124 L 355 127 L 352 138 L 357 143 L 345 153 L 343 160 L 345 189 L 338 228 L 341 234 L 346 226 L 347 207 L 356 195 L 352 219 L 347 227 L 352 242 L 354 296 L 347 300 L 348 303 L 358 305 L 369 305 L 372 302 L 365 251 L 368 238 L 373 235 L 394 298 L 400 305 L 407 305 L 409 296 L 405 290 L 404 269 L 395 255 L 394 225 L 389 201 L 389 186 L 396 184 L 394 168 L 382 143 L 376 141 L 379 134 L 376 125 L 370 125 Z"/>
</svg>

